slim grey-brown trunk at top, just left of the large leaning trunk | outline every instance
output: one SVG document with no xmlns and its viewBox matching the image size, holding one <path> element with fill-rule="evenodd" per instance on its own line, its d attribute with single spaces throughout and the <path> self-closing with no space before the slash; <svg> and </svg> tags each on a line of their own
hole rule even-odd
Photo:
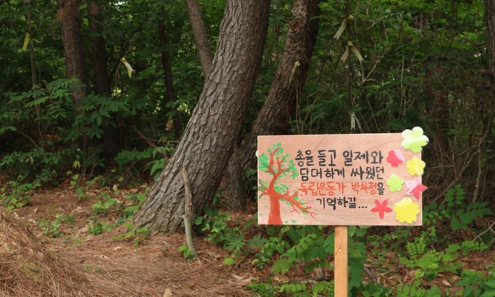
<svg viewBox="0 0 495 297">
<path fill-rule="evenodd" d="M 213 57 L 210 50 L 210 42 L 206 34 L 205 23 L 201 15 L 200 4 L 197 0 L 186 0 L 187 10 L 189 11 L 189 20 L 191 22 L 192 33 L 194 34 L 194 42 L 196 44 L 197 54 L 200 56 L 201 67 L 205 80 L 210 73 Z"/>
</svg>

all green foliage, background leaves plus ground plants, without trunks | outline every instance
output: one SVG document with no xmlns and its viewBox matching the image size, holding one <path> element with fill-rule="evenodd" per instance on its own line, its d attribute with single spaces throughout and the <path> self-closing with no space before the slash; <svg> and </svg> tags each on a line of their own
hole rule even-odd
<svg viewBox="0 0 495 297">
<path fill-rule="evenodd" d="M 213 52 L 225 1 L 200 3 Z M 56 2 L 0 3 L 0 202 L 7 208 L 22 207 L 37 187 L 66 179 L 81 200 L 86 199 L 82 180 L 95 176 L 109 187 L 151 181 L 179 140 L 172 127 L 174 116 L 181 119 L 182 130 L 191 116 L 204 77 L 183 1 L 101 5 L 101 36 L 106 42 L 112 93 L 92 91 L 90 37 L 94 33 L 88 28 L 84 2 L 81 32 L 90 92 L 74 105 L 70 90 L 81 82 L 65 77 Z M 288 0 L 272 1 L 268 40 L 244 132 L 251 129 L 280 62 L 291 7 Z M 320 9 L 319 34 L 308 79 L 290 121 L 291 133 L 385 133 L 421 126 L 430 137 L 423 156 L 429 185 L 424 194 L 425 226 L 415 232 L 350 228 L 352 294 L 435 296 L 439 289 L 429 282 L 449 274 L 459 279 L 459 295 L 495 295 L 493 265 L 472 271 L 458 264 L 461 257 L 487 249 L 493 236 L 481 234 L 491 230 L 484 219 L 492 215 L 493 202 L 487 193 L 495 189 L 492 73 L 487 70 L 483 3 L 340 0 L 321 1 Z M 349 24 L 335 39 L 344 19 L 350 19 Z M 167 35 L 164 45 L 159 42 L 160 22 Z M 30 39 L 22 51 L 26 33 Z M 341 61 L 350 44 L 362 62 L 354 52 Z M 166 97 L 163 51 L 172 60 L 175 101 Z M 122 58 L 135 69 L 132 77 Z M 104 156 L 109 127 L 116 128 L 119 139 L 119 151 L 110 165 Z M 132 197 L 136 204 L 121 210 L 117 222 L 109 224 L 101 216 L 118 202 L 111 190 L 102 192 L 93 206 L 88 232 L 101 234 L 125 224 L 143 198 Z M 294 269 L 309 274 L 331 268 L 332 228 L 267 227 L 253 235 L 248 231 L 255 221 L 232 226 L 227 213 L 215 208 L 205 213 L 195 219 L 196 231 L 230 251 L 227 265 L 253 257 L 253 268 L 269 269 L 272 277 Z M 70 221 L 69 216 L 55 216 L 41 221 L 40 227 L 46 235 L 58 237 L 60 225 Z M 137 244 L 145 233 L 130 228 L 123 237 Z M 186 249 L 181 252 L 188 256 Z M 380 273 L 405 266 L 415 271 L 415 281 L 393 288 L 364 284 L 365 264 L 380 267 Z M 327 295 L 333 292 L 333 281 L 268 279 L 250 288 L 259 295 Z"/>
</svg>

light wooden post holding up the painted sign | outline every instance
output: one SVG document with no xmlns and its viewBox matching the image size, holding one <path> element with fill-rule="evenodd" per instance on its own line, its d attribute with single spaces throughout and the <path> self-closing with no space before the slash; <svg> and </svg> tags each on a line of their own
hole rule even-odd
<svg viewBox="0 0 495 297">
<path fill-rule="evenodd" d="M 348 296 L 348 226 L 335 226 L 335 296 Z"/>
</svg>

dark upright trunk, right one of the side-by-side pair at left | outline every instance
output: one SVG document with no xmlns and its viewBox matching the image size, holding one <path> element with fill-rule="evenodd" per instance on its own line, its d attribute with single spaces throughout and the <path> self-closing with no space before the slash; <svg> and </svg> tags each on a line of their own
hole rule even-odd
<svg viewBox="0 0 495 297">
<path fill-rule="evenodd" d="M 94 71 L 94 91 L 98 95 L 111 95 L 110 77 L 107 69 L 107 52 L 105 39 L 102 36 L 103 22 L 102 7 L 100 4 L 88 1 L 88 23 L 91 34 L 91 55 Z M 119 130 L 116 127 L 104 127 L 102 137 L 105 165 L 116 166 L 115 156 L 121 151 Z"/>
</svg>

